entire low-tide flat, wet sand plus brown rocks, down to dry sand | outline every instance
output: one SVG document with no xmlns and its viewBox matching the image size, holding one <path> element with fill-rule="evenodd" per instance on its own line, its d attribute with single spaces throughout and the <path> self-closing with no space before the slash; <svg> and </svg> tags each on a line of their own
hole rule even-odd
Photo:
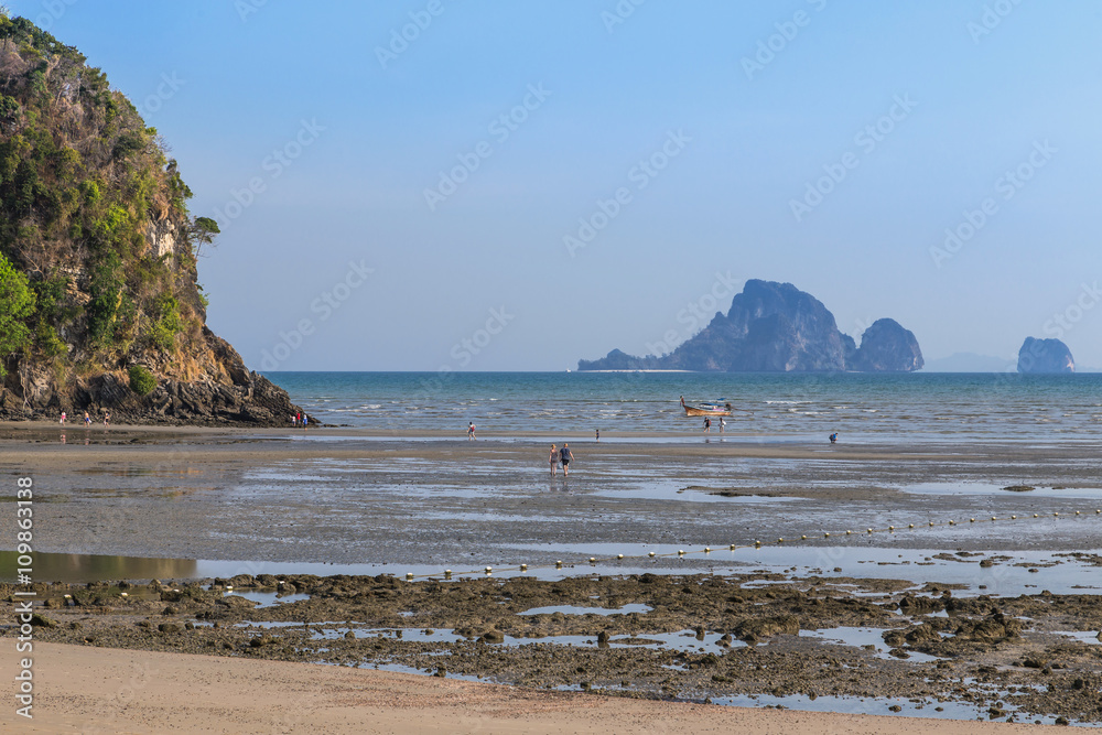
<svg viewBox="0 0 1102 735">
<path fill-rule="evenodd" d="M 35 482 L 37 551 L 227 560 L 228 571 L 127 595 L 115 584 L 44 585 L 58 625 L 42 628 L 41 640 L 263 663 L 443 668 L 443 677 L 521 684 L 526 696 L 547 687 L 601 691 L 611 696 L 583 695 L 601 707 L 625 695 L 757 706 L 790 706 L 795 696 L 845 710 L 853 700 L 824 702 L 866 696 L 872 703 L 860 706 L 876 712 L 898 702 L 925 714 L 942 702 L 941 716 L 966 705 L 957 716 L 1102 722 L 1093 700 L 1081 701 L 1102 689 L 1102 647 L 1061 636 L 1102 625 L 1091 612 L 1102 462 L 1088 445 L 606 433 L 601 443 L 565 437 L 575 462 L 569 478 L 551 478 L 547 447 L 561 435 L 467 442 L 95 426 L 66 430 L 62 444 L 61 433 L 48 424 L 0 431 L 0 469 Z M 14 497 L 14 479 L 0 495 Z M 731 544 L 744 551 L 728 552 Z M 14 548 L 10 526 L 0 548 Z M 118 562 L 101 579 L 133 576 Z M 408 570 L 419 581 L 295 576 L 302 562 L 370 564 L 399 577 Z M 518 579 L 458 580 L 487 565 Z M 456 571 L 453 582 L 444 569 Z M 645 582 L 648 572 L 661 583 Z M 279 580 L 300 596 L 284 587 L 283 604 L 255 608 L 227 590 L 274 596 Z M 455 594 L 466 602 L 454 604 Z M 948 604 L 947 594 L 963 602 Z M 650 610 L 518 623 L 521 597 Z M 281 621 L 298 627 L 271 627 Z M 846 626 L 872 628 L 863 634 L 872 649 L 823 638 Z M 450 637 L 430 640 L 424 630 Z M 602 634 L 613 645 L 601 646 Z M 669 638 L 685 634 L 700 650 Z M 667 638 L 656 647 L 647 636 Z M 516 642 L 525 638 L 540 645 Z M 804 671 L 807 660 L 829 675 Z"/>
</svg>

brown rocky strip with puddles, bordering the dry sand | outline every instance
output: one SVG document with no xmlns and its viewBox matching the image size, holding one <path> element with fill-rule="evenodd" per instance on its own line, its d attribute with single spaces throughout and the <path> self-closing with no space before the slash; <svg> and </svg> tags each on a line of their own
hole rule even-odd
<svg viewBox="0 0 1102 735">
<path fill-rule="evenodd" d="M 923 716 L 963 706 L 1102 722 L 1098 595 L 961 597 L 954 586 L 754 573 L 54 583 L 35 586 L 35 639 L 618 696 L 874 698 L 865 711 L 885 714 L 903 698 Z"/>
</svg>

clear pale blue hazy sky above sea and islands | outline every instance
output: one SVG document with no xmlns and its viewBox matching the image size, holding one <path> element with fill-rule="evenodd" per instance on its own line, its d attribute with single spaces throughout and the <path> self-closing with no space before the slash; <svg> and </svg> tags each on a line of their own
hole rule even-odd
<svg viewBox="0 0 1102 735">
<path fill-rule="evenodd" d="M 749 278 L 1102 365 L 1096 2 L 7 4 L 169 142 L 257 369 L 573 368 Z"/>
</svg>

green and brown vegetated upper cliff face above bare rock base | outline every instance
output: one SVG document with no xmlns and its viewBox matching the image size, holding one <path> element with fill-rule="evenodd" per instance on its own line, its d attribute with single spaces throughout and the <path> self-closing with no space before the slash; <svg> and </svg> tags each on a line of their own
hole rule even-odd
<svg viewBox="0 0 1102 735">
<path fill-rule="evenodd" d="M 171 375 L 203 341 L 193 241 L 217 233 L 190 196 L 100 69 L 0 14 L 0 377 L 20 360 Z"/>
</svg>

